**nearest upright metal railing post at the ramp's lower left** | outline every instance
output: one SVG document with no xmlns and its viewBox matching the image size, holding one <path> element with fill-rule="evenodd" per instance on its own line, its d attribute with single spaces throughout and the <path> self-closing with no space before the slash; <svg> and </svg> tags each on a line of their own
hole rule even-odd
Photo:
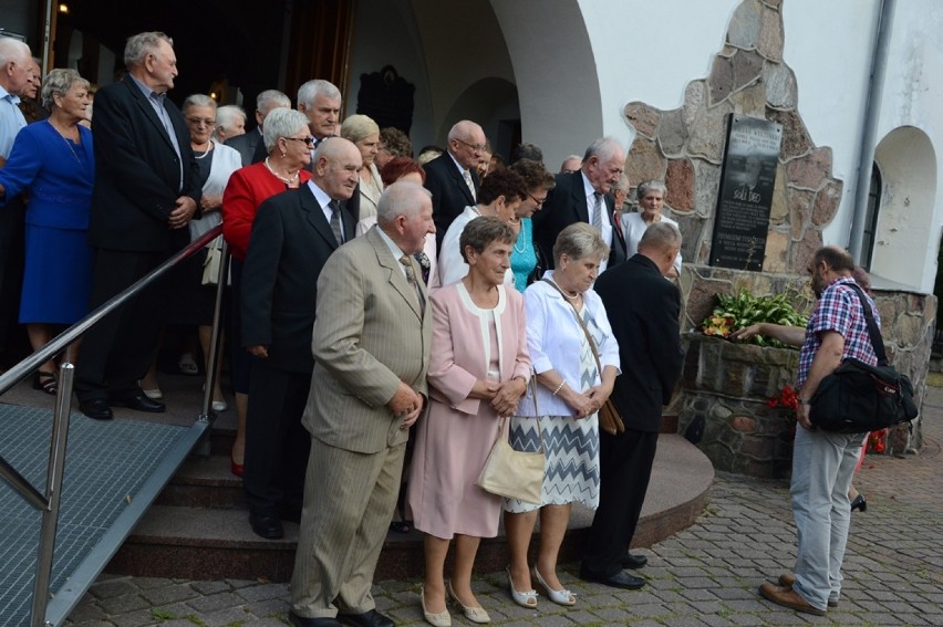
<svg viewBox="0 0 943 627">
<path fill-rule="evenodd" d="M 49 469 L 45 479 L 48 506 L 42 510 L 37 578 L 33 585 L 31 624 L 33 627 L 49 625 L 45 608 L 49 604 L 49 585 L 52 577 L 52 557 L 55 552 L 55 529 L 59 525 L 59 501 L 62 497 L 62 474 L 65 469 L 65 448 L 69 440 L 69 415 L 72 410 L 72 382 L 75 367 L 63 362 L 59 367 L 59 391 L 52 422 L 52 440 L 49 451 Z"/>
</svg>

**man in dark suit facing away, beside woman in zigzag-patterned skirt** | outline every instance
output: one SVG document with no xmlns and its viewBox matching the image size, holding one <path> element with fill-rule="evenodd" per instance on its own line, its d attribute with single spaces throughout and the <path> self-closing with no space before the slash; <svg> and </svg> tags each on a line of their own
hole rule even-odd
<svg viewBox="0 0 943 627">
<path fill-rule="evenodd" d="M 652 224 L 639 253 L 600 275 L 595 291 L 619 342 L 622 374 L 612 401 L 625 431 L 600 432 L 600 498 L 583 553 L 580 577 L 626 589 L 645 579 L 623 568 L 641 568 L 644 555 L 629 553 L 659 443 L 662 406 L 681 375 L 681 299 L 663 275 L 681 249 L 681 233 L 667 222 Z"/>
</svg>

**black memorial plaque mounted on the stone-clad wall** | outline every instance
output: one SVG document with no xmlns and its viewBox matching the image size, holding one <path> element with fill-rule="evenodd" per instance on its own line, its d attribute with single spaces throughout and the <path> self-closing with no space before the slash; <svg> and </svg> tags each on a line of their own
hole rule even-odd
<svg viewBox="0 0 943 627">
<path fill-rule="evenodd" d="M 763 269 L 781 139 L 780 124 L 730 114 L 711 265 L 755 272 Z"/>
</svg>

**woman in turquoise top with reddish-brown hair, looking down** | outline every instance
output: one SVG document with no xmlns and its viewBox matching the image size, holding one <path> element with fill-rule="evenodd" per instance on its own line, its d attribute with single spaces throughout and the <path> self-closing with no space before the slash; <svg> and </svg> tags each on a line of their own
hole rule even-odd
<svg viewBox="0 0 943 627">
<path fill-rule="evenodd" d="M 547 171 L 547 167 L 541 161 L 518 159 L 509 167 L 511 171 L 524 179 L 525 189 L 527 189 L 527 196 L 515 209 L 515 219 L 520 221 L 520 231 L 514 242 L 514 250 L 511 250 L 514 286 L 518 292 L 524 293 L 524 290 L 535 279 L 539 279 L 539 274 L 546 269 L 535 272 L 539 260 L 533 245 L 533 227 L 530 223 L 530 217 L 540 211 L 543 201 L 547 199 L 547 192 L 553 189 L 557 184 L 553 180 L 553 175 Z"/>
</svg>

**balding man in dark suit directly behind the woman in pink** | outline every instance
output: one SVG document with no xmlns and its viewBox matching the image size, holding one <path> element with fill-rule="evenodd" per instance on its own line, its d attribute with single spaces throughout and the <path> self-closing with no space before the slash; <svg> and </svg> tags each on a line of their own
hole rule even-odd
<svg viewBox="0 0 943 627">
<path fill-rule="evenodd" d="M 425 187 L 433 195 L 437 247 L 442 247 L 452 221 L 477 202 L 480 179 L 476 168 L 484 151 L 485 132 L 474 122 L 463 119 L 448 132 L 445 153 L 424 166 Z"/>
</svg>

